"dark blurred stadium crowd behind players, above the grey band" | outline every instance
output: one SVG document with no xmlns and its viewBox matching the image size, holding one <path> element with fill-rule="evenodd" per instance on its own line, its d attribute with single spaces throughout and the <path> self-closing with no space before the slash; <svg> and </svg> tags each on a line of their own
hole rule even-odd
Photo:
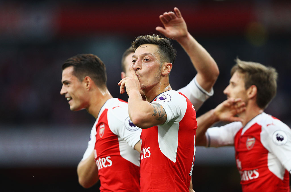
<svg viewBox="0 0 291 192">
<path fill-rule="evenodd" d="M 125 17 L 128 20 L 137 17 L 129 11 L 130 7 L 126 10 L 127 4 L 122 4 L 124 7 L 120 8 L 121 4 L 113 2 L 116 6 L 110 6 L 110 8 L 108 4 L 100 4 L 103 7 L 107 6 L 108 10 L 101 10 L 101 8 L 99 10 L 99 4 L 95 1 L 84 1 L 79 4 L 78 2 L 69 4 L 67 1 L 40 1 L 38 3 L 31 1 L 30 4 L 21 1 L 0 2 L 2 26 L 0 30 L 0 122 L 2 124 L 73 125 L 87 124 L 88 121 L 88 124 L 91 124 L 94 120 L 90 115 L 82 111 L 70 112 L 66 100 L 59 95 L 62 63 L 67 58 L 81 53 L 96 54 L 104 61 L 107 66 L 107 85 L 110 92 L 114 97 L 127 100 L 126 95 L 119 94 L 117 86 L 120 80 L 121 55 L 137 35 L 156 32 L 155 26 L 159 24 L 159 20 L 158 14 L 153 13 L 162 13 L 163 7 L 155 7 L 152 13 L 147 13 L 148 15 L 136 13 L 143 15 L 143 19 L 150 15 L 150 22 L 132 24 L 122 18 Z M 275 4 L 272 1 L 265 3 L 252 1 L 247 4 L 241 1 L 238 3 L 221 2 L 222 5 L 217 4 L 219 2 L 216 1 L 205 4 L 202 1 L 194 1 L 191 4 L 189 1 L 182 1 L 178 5 L 172 2 L 173 7 L 180 6 L 182 12 L 185 13 L 184 19 L 188 23 L 189 32 L 207 49 L 220 69 L 219 79 L 214 86 L 214 96 L 205 103 L 200 113 L 226 99 L 222 91 L 228 84 L 230 67 L 234 64 L 234 59 L 239 57 L 241 60 L 259 62 L 278 70 L 277 96 L 266 112 L 280 118 L 290 126 L 288 116 L 291 109 L 289 89 L 291 21 L 288 20 L 290 12 L 286 10 L 291 4 L 285 1 L 277 2 L 279 3 Z M 172 9 L 172 4 L 169 3 L 167 6 Z M 113 14 L 114 10 L 120 10 L 121 15 Z M 241 13 L 239 10 L 242 10 Z M 246 10 L 249 11 L 246 12 Z M 104 15 L 106 11 L 108 15 Z M 196 15 L 192 17 L 191 13 Z M 218 13 L 221 15 L 217 17 L 213 15 Z M 269 15 L 267 16 L 266 13 Z M 233 14 L 236 15 L 232 18 Z M 257 14 L 257 17 L 254 17 L 254 14 Z M 260 17 L 258 14 L 261 14 Z M 72 15 L 81 18 L 77 16 L 72 18 Z M 101 16 L 102 19 L 108 20 L 98 20 Z M 281 21 L 280 18 L 285 18 L 285 20 Z M 117 19 L 115 23 L 114 19 Z M 95 25 L 90 23 L 92 21 L 96 22 Z M 124 25 L 124 28 L 120 26 L 114 28 L 112 22 L 116 25 Z M 136 25 L 138 27 L 134 28 Z M 106 26 L 113 26 L 110 32 Z M 141 30 L 142 26 L 148 27 L 148 30 L 143 28 Z M 182 48 L 175 41 L 173 43 L 178 56 L 171 73 L 170 83 L 173 89 L 178 89 L 185 86 L 196 72 Z"/>
</svg>

